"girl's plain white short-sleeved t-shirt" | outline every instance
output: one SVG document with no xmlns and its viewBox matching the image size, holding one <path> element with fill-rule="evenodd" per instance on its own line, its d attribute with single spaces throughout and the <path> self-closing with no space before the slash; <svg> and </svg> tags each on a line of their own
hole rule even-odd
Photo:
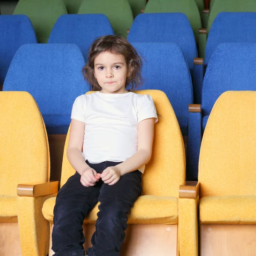
<svg viewBox="0 0 256 256">
<path fill-rule="evenodd" d="M 127 160 L 138 150 L 138 123 L 152 117 L 157 122 L 151 96 L 132 92 L 83 94 L 71 113 L 71 118 L 85 123 L 82 154 L 90 163 Z"/>
</svg>

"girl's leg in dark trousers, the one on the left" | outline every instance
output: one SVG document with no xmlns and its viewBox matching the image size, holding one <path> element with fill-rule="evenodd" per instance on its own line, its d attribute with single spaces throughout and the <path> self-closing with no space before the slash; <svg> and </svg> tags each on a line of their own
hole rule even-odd
<svg viewBox="0 0 256 256">
<path fill-rule="evenodd" d="M 52 250 L 54 256 L 84 256 L 82 224 L 85 215 L 98 202 L 102 181 L 84 187 L 76 172 L 59 190 L 54 207 Z"/>
</svg>

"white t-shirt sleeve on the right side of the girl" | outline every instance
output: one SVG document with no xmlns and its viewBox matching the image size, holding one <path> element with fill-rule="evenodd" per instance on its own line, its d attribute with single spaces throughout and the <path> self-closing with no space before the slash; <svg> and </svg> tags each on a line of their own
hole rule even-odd
<svg viewBox="0 0 256 256">
<path fill-rule="evenodd" d="M 138 122 L 141 122 L 148 118 L 154 118 L 155 123 L 158 121 L 157 110 L 150 95 L 145 94 L 142 97 L 138 98 L 137 109 Z"/>
</svg>

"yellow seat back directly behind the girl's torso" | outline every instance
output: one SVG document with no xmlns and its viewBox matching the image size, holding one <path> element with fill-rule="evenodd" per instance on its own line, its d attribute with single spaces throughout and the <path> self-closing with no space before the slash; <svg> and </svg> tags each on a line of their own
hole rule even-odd
<svg viewBox="0 0 256 256">
<path fill-rule="evenodd" d="M 152 96 L 159 121 L 155 124 L 154 145 L 150 162 L 143 174 L 143 195 L 178 197 L 179 185 L 185 181 L 183 138 L 175 113 L 166 94 L 159 90 L 136 93 Z M 75 173 L 67 160 L 69 132 L 64 148 L 61 186 Z"/>
</svg>

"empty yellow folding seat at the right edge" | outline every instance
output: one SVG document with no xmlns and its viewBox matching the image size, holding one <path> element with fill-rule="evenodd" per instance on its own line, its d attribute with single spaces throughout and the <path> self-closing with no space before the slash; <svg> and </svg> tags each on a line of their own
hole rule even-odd
<svg viewBox="0 0 256 256">
<path fill-rule="evenodd" d="M 255 113 L 256 91 L 225 92 L 212 108 L 199 160 L 201 256 L 255 255 Z"/>
</svg>

